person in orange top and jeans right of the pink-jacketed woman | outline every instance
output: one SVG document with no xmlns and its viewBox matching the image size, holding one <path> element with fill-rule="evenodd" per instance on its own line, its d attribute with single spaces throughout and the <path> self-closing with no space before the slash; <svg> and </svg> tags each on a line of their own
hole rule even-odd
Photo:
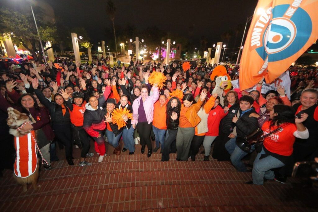
<svg viewBox="0 0 318 212">
<path fill-rule="evenodd" d="M 152 121 L 152 129 L 156 140 L 156 148 L 154 149 L 154 152 L 157 152 L 160 148 L 159 143 L 161 144 L 161 150 L 163 150 L 164 135 L 167 130 L 166 112 L 167 97 L 165 95 L 160 95 L 159 100 L 154 104 L 154 120 Z"/>
</svg>

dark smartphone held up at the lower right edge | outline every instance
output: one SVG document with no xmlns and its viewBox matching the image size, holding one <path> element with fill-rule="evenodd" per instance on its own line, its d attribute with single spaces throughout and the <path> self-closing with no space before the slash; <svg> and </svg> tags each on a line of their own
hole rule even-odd
<svg viewBox="0 0 318 212">
<path fill-rule="evenodd" d="M 297 162 L 294 165 L 292 177 L 311 178 L 317 177 L 318 163 L 315 161 Z"/>
</svg>

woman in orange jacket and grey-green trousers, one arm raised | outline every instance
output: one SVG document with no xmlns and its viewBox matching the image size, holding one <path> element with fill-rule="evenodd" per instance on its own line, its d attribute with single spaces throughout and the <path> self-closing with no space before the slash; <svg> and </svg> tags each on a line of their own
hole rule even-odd
<svg viewBox="0 0 318 212">
<path fill-rule="evenodd" d="M 176 139 L 176 160 L 188 160 L 188 154 L 191 141 L 194 136 L 195 127 L 201 121 L 200 117 L 197 115 L 197 112 L 200 110 L 206 95 L 206 91 L 202 92 L 198 102 L 194 100 L 192 94 L 186 94 L 183 96 L 183 105 L 180 111 L 180 120 Z"/>
</svg>

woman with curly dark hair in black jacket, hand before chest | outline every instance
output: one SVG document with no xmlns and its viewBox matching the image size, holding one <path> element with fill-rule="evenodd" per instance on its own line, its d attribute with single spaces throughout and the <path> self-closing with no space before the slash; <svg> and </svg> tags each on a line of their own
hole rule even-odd
<svg viewBox="0 0 318 212">
<path fill-rule="evenodd" d="M 176 137 L 179 126 L 181 102 L 177 97 L 172 97 L 167 103 L 167 134 L 163 147 L 161 161 L 169 161 L 169 153 L 176 153 Z"/>
</svg>

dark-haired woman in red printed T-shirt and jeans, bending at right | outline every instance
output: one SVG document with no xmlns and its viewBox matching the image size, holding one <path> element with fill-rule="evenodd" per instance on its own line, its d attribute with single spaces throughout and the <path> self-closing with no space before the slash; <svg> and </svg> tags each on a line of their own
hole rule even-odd
<svg viewBox="0 0 318 212">
<path fill-rule="evenodd" d="M 271 169 L 285 166 L 293 154 L 293 145 L 296 138 L 309 137 L 308 129 L 302 124 L 308 114 L 301 114 L 295 118 L 294 110 L 290 106 L 275 105 L 270 112 L 271 120 L 262 126 L 265 137 L 262 150 L 258 153 L 252 169 L 253 181 L 248 184 L 263 185 L 264 178 L 274 180 Z"/>
</svg>

